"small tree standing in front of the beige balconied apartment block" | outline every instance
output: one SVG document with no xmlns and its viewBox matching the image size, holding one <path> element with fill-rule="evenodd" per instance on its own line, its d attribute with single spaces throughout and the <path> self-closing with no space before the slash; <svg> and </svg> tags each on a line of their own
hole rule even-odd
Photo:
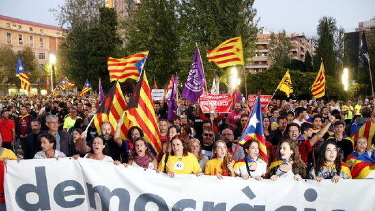
<svg viewBox="0 0 375 211">
<path fill-rule="evenodd" d="M 291 60 L 289 56 L 291 49 L 292 46 L 290 45 L 290 39 L 285 33 L 285 30 L 282 30 L 277 35 L 272 33 L 270 41 L 270 52 L 268 55 L 271 61 L 271 65 L 286 67 Z"/>
</svg>

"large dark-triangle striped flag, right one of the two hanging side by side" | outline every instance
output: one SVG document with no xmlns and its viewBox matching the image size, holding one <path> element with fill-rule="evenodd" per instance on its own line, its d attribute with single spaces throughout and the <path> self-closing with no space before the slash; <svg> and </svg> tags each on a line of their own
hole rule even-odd
<svg viewBox="0 0 375 211">
<path fill-rule="evenodd" d="M 127 105 L 125 116 L 124 124 L 127 123 L 125 121 L 129 121 L 129 126 L 140 127 L 144 133 L 145 140 L 151 144 L 156 153 L 160 153 L 162 151 L 162 145 L 156 124 L 153 101 L 151 99 L 151 89 L 144 72 L 142 72 L 138 84 L 135 87 L 133 97 Z"/>
</svg>

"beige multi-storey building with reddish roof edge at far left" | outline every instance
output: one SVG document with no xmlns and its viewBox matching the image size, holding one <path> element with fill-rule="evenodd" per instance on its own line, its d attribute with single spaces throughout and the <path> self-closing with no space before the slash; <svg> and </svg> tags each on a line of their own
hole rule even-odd
<svg viewBox="0 0 375 211">
<path fill-rule="evenodd" d="M 0 44 L 11 45 L 12 49 L 22 51 L 29 45 L 38 61 L 39 68 L 49 63 L 50 53 L 56 53 L 63 40 L 60 27 L 11 18 L 0 15 Z M 2 84 L 0 95 L 18 92 L 15 84 Z M 46 81 L 31 81 L 32 94 L 46 94 Z"/>
</svg>

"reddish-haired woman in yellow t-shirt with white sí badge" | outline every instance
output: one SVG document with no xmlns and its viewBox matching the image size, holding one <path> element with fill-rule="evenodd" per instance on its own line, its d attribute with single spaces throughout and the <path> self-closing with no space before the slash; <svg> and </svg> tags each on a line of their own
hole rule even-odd
<svg viewBox="0 0 375 211">
<path fill-rule="evenodd" d="M 163 155 L 158 169 L 170 177 L 175 174 L 203 174 L 195 155 L 188 152 L 187 143 L 181 135 L 176 135 L 171 139 L 172 151 Z"/>
</svg>

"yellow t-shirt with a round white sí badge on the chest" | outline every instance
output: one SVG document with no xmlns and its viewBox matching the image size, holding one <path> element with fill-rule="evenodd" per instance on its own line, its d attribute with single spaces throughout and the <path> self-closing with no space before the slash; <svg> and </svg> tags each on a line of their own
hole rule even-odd
<svg viewBox="0 0 375 211">
<path fill-rule="evenodd" d="M 159 169 L 164 170 L 165 154 L 159 163 Z M 174 172 L 175 174 L 193 174 L 201 172 L 198 160 L 195 155 L 188 152 L 186 156 L 169 155 L 166 162 L 166 172 Z"/>
</svg>

